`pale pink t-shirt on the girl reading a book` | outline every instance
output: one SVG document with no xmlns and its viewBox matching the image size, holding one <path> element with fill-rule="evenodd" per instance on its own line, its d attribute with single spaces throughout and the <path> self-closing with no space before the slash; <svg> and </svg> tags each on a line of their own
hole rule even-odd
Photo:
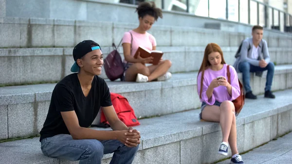
<svg viewBox="0 0 292 164">
<path fill-rule="evenodd" d="M 126 32 L 123 36 L 123 43 L 130 43 L 131 44 L 131 34 L 133 36 L 132 40 L 132 50 L 131 50 L 131 56 L 134 56 L 136 51 L 138 50 L 139 46 L 143 46 L 146 49 L 152 51 L 153 46 L 156 46 L 156 40 L 155 37 L 152 36 L 149 33 L 140 34 L 136 33 L 133 30 L 130 30 L 129 32 Z"/>
</svg>

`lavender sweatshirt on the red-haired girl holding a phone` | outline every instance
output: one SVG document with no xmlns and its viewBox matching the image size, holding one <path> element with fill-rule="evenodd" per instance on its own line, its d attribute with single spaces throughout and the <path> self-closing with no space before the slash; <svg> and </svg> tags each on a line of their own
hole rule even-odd
<svg viewBox="0 0 292 164">
<path fill-rule="evenodd" d="M 237 72 L 235 71 L 234 67 L 231 65 L 229 66 L 230 70 L 230 83 L 232 88 L 232 95 L 230 96 L 227 88 L 225 86 L 219 86 L 214 88 L 213 94 L 210 99 L 208 99 L 206 91 L 211 84 L 212 80 L 218 76 L 224 76 L 227 79 L 227 64 L 223 65 L 223 68 L 219 71 L 213 71 L 210 68 L 205 70 L 204 77 L 203 77 L 203 85 L 201 86 L 201 72 L 197 78 L 198 84 L 198 94 L 200 95 L 200 90 L 202 87 L 202 94 L 201 94 L 201 102 L 205 102 L 207 105 L 213 105 L 215 101 L 223 102 L 225 100 L 233 101 L 240 95 L 240 88 L 238 84 L 238 77 Z"/>
</svg>

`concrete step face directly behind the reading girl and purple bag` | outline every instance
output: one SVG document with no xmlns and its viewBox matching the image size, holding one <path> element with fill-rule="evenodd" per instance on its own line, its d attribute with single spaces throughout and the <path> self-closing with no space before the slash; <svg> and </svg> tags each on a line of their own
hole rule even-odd
<svg viewBox="0 0 292 164">
<path fill-rule="evenodd" d="M 238 47 L 222 47 L 227 63 L 235 62 L 234 55 Z M 164 59 L 172 61 L 171 73 L 198 71 L 205 47 L 190 46 L 159 46 L 165 54 Z M 105 57 L 113 50 L 112 47 L 102 47 Z M 73 48 L 13 48 L 0 49 L 0 85 L 21 85 L 51 83 L 61 80 L 71 74 L 74 62 Z M 119 48 L 124 59 L 123 49 Z M 277 65 L 292 64 L 291 47 L 273 47 L 269 49 L 271 61 Z M 108 78 L 102 69 L 102 78 Z"/>
</svg>

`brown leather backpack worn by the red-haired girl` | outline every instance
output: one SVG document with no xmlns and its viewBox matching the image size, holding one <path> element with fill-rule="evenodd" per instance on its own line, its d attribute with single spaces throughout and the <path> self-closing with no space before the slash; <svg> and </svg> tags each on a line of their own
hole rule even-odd
<svg viewBox="0 0 292 164">
<path fill-rule="evenodd" d="M 230 83 L 230 71 L 229 71 L 229 65 L 227 65 L 227 80 L 228 80 L 228 83 Z M 243 108 L 243 105 L 244 105 L 244 94 L 243 94 L 243 90 L 242 90 L 242 84 L 240 83 L 239 79 L 238 79 L 238 83 L 239 83 L 239 88 L 240 88 L 240 95 L 235 99 L 233 100 L 233 104 L 235 106 L 235 115 L 237 116 L 239 114 L 239 112 L 241 111 L 241 109 Z"/>
</svg>

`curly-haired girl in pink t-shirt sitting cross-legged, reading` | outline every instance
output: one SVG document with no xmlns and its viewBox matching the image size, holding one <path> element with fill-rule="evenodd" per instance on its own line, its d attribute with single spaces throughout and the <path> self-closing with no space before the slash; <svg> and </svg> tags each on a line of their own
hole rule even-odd
<svg viewBox="0 0 292 164">
<path fill-rule="evenodd" d="M 158 65 L 146 66 L 152 61 L 152 57 L 142 58 L 138 55 L 134 58 L 139 46 L 143 46 L 148 50 L 156 50 L 155 37 L 147 33 L 154 21 L 158 17 L 162 18 L 162 11 L 155 7 L 154 2 L 142 2 L 137 10 L 139 17 L 139 26 L 123 37 L 122 45 L 125 55 L 125 64 L 127 64 L 125 72 L 125 81 L 147 82 L 152 80 L 164 81 L 171 78 L 171 73 L 167 72 L 171 67 L 170 60 L 162 60 Z M 131 45 L 132 43 L 132 45 Z"/>
</svg>

